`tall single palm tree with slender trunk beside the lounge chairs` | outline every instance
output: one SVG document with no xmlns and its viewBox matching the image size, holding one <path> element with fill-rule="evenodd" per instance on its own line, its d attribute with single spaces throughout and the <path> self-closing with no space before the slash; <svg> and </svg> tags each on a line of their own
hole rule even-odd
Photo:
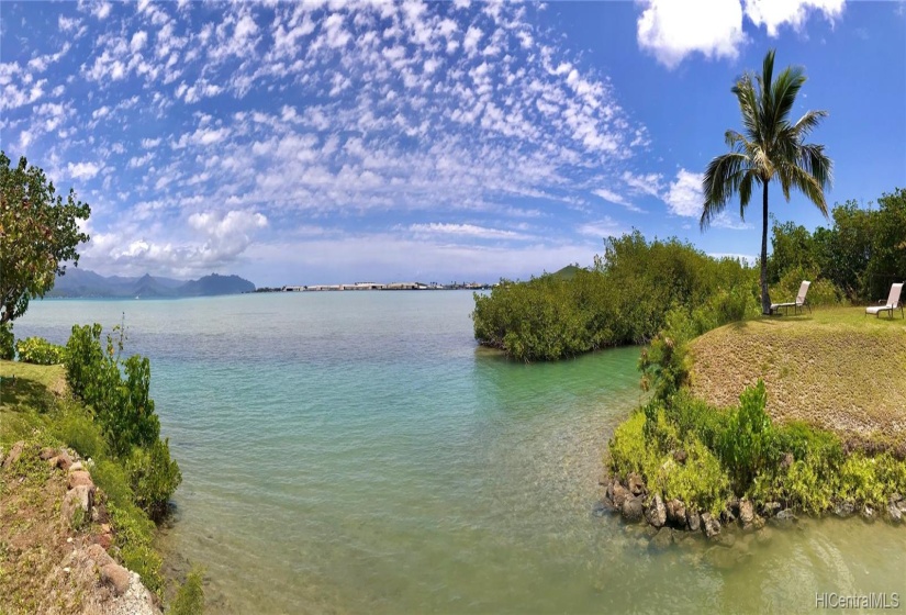
<svg viewBox="0 0 906 615">
<path fill-rule="evenodd" d="M 803 143 L 805 137 L 827 116 L 827 111 L 807 111 L 795 124 L 790 111 L 796 94 L 805 83 L 799 67 L 787 67 L 772 80 L 774 49 L 764 56 L 761 75 L 745 75 L 731 91 L 739 101 L 743 132 L 727 131 L 725 139 L 731 152 L 714 158 L 705 171 L 702 190 L 705 195 L 702 231 L 724 211 L 727 202 L 739 192 L 739 215 L 745 217 L 752 188 L 762 190 L 761 228 L 761 310 L 771 313 L 768 295 L 768 185 L 776 179 L 786 201 L 790 189 L 797 188 L 827 217 L 825 187 L 831 181 L 832 161 L 825 156 L 824 145 Z"/>
</svg>

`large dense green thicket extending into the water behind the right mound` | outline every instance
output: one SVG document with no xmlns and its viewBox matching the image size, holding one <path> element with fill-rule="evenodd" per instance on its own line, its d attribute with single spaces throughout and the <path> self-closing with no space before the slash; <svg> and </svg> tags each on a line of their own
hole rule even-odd
<svg viewBox="0 0 906 615">
<path fill-rule="evenodd" d="M 472 320 L 480 344 L 517 360 L 552 360 L 647 343 L 671 309 L 712 328 L 758 313 L 757 297 L 756 271 L 739 261 L 714 259 L 675 238 L 648 243 L 635 232 L 607 239 L 592 271 L 501 280 L 490 294 L 476 293 Z"/>
</svg>

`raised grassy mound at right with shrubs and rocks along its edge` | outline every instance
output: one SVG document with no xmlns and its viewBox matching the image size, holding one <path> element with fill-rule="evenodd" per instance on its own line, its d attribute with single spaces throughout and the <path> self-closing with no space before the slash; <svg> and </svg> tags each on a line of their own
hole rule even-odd
<svg viewBox="0 0 906 615">
<path fill-rule="evenodd" d="M 611 440 L 605 501 L 653 525 L 668 502 L 692 513 L 676 527 L 696 528 L 701 513 L 709 535 L 740 511 L 749 527 L 781 511 L 901 523 L 906 323 L 863 314 L 758 317 L 697 336 L 682 314 L 668 318 L 642 354 L 655 395 Z"/>
</svg>

